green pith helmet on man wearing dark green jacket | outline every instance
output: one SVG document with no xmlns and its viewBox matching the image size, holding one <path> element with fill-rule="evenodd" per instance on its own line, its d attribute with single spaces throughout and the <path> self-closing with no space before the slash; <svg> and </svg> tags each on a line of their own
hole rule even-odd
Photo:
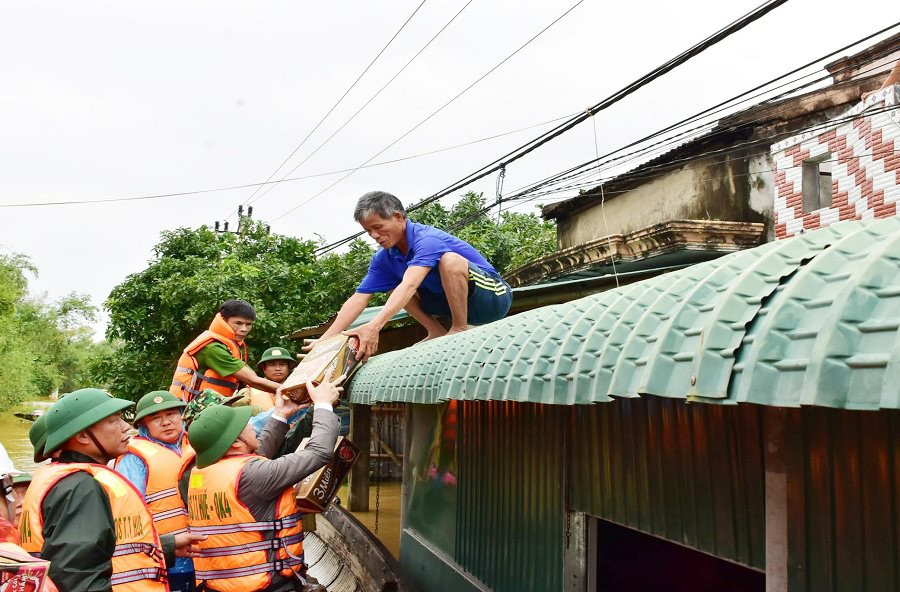
<svg viewBox="0 0 900 592">
<path fill-rule="evenodd" d="M 44 444 L 44 454 L 52 453 L 78 432 L 132 405 L 134 403 L 131 401 L 116 399 L 100 389 L 86 388 L 72 391 L 54 403 L 47 412 L 47 442 Z"/>
</svg>

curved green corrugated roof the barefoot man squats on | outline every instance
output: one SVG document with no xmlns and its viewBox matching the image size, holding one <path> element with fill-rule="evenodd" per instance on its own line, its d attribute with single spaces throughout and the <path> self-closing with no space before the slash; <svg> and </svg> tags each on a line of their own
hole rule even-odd
<svg viewBox="0 0 900 592">
<path fill-rule="evenodd" d="M 841 222 L 376 356 L 351 395 L 900 408 L 898 327 L 900 218 Z"/>
</svg>

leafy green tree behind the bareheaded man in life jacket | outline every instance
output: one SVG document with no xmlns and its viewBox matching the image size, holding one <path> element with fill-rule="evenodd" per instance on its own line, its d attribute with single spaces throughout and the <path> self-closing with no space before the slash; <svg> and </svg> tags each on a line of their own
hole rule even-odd
<svg viewBox="0 0 900 592">
<path fill-rule="evenodd" d="M 246 218 L 238 234 L 205 226 L 163 232 L 147 269 L 110 293 L 110 343 L 91 361 L 92 373 L 117 396 L 132 399 L 168 388 L 178 352 L 231 298 L 256 308 L 251 360 L 267 347 L 287 346 L 283 336 L 324 321 L 340 307 L 372 255 L 356 242 L 347 253 L 317 259 L 317 246 L 270 234 Z"/>
</svg>

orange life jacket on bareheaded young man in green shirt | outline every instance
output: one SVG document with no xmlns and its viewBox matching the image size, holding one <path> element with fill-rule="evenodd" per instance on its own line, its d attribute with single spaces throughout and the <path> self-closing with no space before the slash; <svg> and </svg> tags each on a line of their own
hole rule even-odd
<svg viewBox="0 0 900 592">
<path fill-rule="evenodd" d="M 184 348 L 184 352 L 178 358 L 178 367 L 175 369 L 175 376 L 172 377 L 169 392 L 183 401 L 190 401 L 204 389 L 212 389 L 224 397 L 233 395 L 240 386 L 238 379 L 233 376 L 221 376 L 212 368 L 207 368 L 205 374 L 200 372 L 200 365 L 195 356 L 210 343 L 218 342 L 227 347 L 235 359 L 242 360 L 246 364 L 247 346 L 243 342 L 238 343 L 234 338 L 234 329 L 228 326 L 221 313 L 216 313 L 216 318 L 210 323 L 209 329 Z"/>
</svg>

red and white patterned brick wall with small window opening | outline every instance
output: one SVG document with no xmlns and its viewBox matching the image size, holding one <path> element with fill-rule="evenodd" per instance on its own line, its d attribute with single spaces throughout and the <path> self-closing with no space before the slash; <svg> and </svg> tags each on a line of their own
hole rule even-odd
<svg viewBox="0 0 900 592">
<path fill-rule="evenodd" d="M 775 236 L 838 220 L 886 218 L 900 201 L 900 85 L 869 96 L 831 125 L 772 146 Z M 832 204 L 803 212 L 803 162 L 830 153 Z"/>
</svg>

